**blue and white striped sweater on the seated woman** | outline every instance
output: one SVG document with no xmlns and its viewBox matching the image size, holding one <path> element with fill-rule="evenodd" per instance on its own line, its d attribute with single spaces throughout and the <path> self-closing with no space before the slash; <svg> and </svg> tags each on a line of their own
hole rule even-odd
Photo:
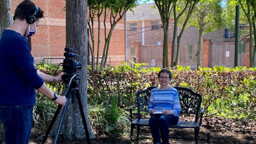
<svg viewBox="0 0 256 144">
<path fill-rule="evenodd" d="M 179 117 L 178 124 L 180 123 L 180 99 L 178 91 L 170 87 L 166 90 L 154 88 L 150 95 L 150 100 L 148 104 L 148 112 L 155 109 L 156 112 L 162 112 L 163 110 L 172 110 L 174 116 Z"/>
</svg>

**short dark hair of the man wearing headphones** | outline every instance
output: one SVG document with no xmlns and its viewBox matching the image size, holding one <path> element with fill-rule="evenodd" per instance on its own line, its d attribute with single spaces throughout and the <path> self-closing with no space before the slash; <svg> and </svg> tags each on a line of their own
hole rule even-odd
<svg viewBox="0 0 256 144">
<path fill-rule="evenodd" d="M 26 17 L 28 17 L 29 15 L 33 15 L 35 11 L 36 5 L 30 0 L 25 0 L 17 6 L 13 16 L 13 20 L 25 20 Z M 38 7 L 38 12 L 36 13 L 35 17 L 36 20 L 44 17 L 44 11 L 41 10 L 40 7 Z"/>
</svg>

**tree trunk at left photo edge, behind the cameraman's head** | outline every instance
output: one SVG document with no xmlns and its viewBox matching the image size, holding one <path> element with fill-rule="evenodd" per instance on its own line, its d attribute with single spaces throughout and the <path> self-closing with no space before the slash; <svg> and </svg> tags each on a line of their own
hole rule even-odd
<svg viewBox="0 0 256 144">
<path fill-rule="evenodd" d="M 0 34 L 2 35 L 5 28 L 11 25 L 11 1 L 1 0 L 0 2 Z"/>
</svg>

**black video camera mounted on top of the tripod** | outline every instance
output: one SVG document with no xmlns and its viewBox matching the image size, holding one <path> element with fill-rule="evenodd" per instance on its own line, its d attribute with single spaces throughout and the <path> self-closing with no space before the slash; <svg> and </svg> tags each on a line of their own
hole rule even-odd
<svg viewBox="0 0 256 144">
<path fill-rule="evenodd" d="M 79 55 L 72 53 L 73 51 L 75 51 L 74 48 L 65 48 L 64 50 L 65 59 L 63 60 L 63 72 L 67 74 L 76 73 L 77 69 L 79 70 L 82 68 L 82 63 L 73 60 L 72 58 Z"/>
</svg>

